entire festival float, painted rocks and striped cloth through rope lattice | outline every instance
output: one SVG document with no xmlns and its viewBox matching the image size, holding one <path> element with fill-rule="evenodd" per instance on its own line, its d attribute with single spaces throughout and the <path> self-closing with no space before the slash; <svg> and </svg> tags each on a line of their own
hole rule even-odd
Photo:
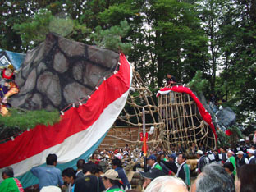
<svg viewBox="0 0 256 192">
<path fill-rule="evenodd" d="M 25 55 L 21 66 L 14 67 L 19 93 L 8 98 L 11 108 L 21 114 L 38 110 L 60 114 L 53 125 L 39 123 L 1 141 L 0 168 L 13 167 L 24 187 L 38 183 L 30 169 L 44 166 L 48 153 L 57 154 L 58 168 L 75 167 L 105 137 L 125 141 L 139 149 L 138 154 L 143 145 L 148 153 L 159 146 L 170 152 L 171 144 L 217 148 L 211 108 L 206 109 L 185 85 L 162 88 L 153 95 L 123 53 L 50 33 Z M 107 135 L 111 127 L 115 129 L 113 124 L 120 123 L 127 126 L 123 137 Z M 125 139 L 132 134 L 131 126 L 137 129 L 137 139 Z"/>
</svg>

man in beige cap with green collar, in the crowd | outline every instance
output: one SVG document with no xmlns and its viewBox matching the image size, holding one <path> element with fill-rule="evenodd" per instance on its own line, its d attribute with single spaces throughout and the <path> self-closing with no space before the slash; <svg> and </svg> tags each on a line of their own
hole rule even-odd
<svg viewBox="0 0 256 192">
<path fill-rule="evenodd" d="M 103 184 L 107 189 L 106 192 L 125 192 L 124 190 L 121 190 L 119 187 L 119 181 L 121 179 L 118 178 L 117 171 L 113 169 L 109 169 L 102 176 L 103 176 Z"/>
</svg>

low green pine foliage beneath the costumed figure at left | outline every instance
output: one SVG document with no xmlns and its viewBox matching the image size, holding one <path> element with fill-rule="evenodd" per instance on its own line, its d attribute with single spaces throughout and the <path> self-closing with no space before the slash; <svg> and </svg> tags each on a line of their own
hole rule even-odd
<svg viewBox="0 0 256 192">
<path fill-rule="evenodd" d="M 40 111 L 21 111 L 18 109 L 10 109 L 11 116 L 0 116 L 0 126 L 2 127 L 19 127 L 21 130 L 34 128 L 37 125 L 53 125 L 60 121 L 59 112 Z"/>
</svg>

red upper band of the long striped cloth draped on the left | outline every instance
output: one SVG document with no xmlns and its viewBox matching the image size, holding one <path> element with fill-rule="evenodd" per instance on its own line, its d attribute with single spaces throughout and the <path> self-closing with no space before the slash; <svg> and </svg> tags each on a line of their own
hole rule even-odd
<svg viewBox="0 0 256 192">
<path fill-rule="evenodd" d="M 45 149 L 62 144 L 66 138 L 93 125 L 104 109 L 130 88 L 130 65 L 127 64 L 126 57 L 122 53 L 119 62 L 121 66 L 118 73 L 104 80 L 87 103 L 67 110 L 60 122 L 53 126 L 35 126 L 34 129 L 25 131 L 14 140 L 0 144 L 0 168 L 21 162 Z"/>
</svg>

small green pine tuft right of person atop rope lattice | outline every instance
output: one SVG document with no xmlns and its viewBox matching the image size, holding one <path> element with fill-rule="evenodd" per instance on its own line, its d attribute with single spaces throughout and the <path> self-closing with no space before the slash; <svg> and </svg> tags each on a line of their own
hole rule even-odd
<svg viewBox="0 0 256 192">
<path fill-rule="evenodd" d="M 196 71 L 194 78 L 188 84 L 195 93 L 201 93 L 208 86 L 208 80 L 202 79 L 202 71 Z"/>
</svg>

